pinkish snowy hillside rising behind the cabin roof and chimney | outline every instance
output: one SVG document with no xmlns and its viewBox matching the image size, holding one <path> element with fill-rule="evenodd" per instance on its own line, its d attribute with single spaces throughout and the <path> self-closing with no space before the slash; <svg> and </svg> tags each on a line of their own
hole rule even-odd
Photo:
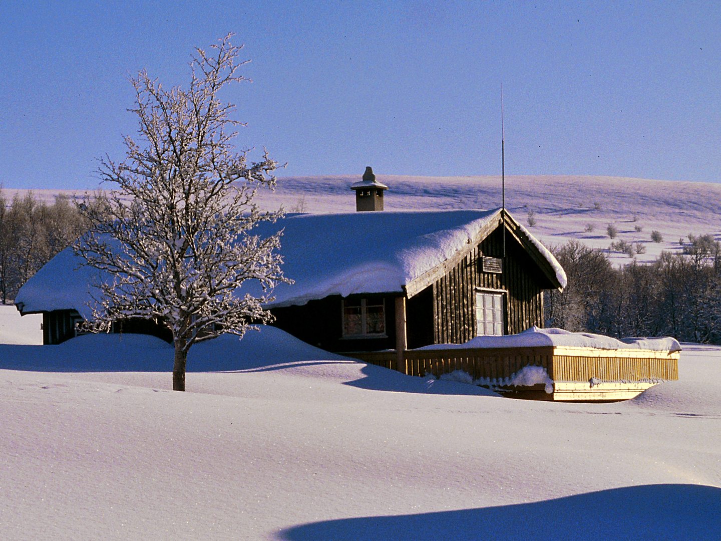
<svg viewBox="0 0 721 541">
<path fill-rule="evenodd" d="M 409 177 L 382 175 L 389 185 L 386 210 L 408 208 L 483 208 L 501 206 L 500 176 Z M 352 212 L 355 199 L 350 185 L 361 175 L 325 177 L 280 177 L 274 193 L 259 192 L 266 208 L 283 205 L 288 211 L 310 213 Z M 505 177 L 506 206 L 518 221 L 544 244 L 553 246 L 570 239 L 586 245 L 609 248 L 611 242 L 640 243 L 645 253 L 640 262 L 655 260 L 661 250 L 679 251 L 678 239 L 691 234 L 714 234 L 721 239 L 721 184 L 672 182 L 622 177 L 513 176 Z M 8 200 L 27 190 L 4 190 Z M 37 198 L 52 203 L 58 193 L 81 196 L 74 190 L 35 190 Z M 606 229 L 616 227 L 610 239 Z M 587 229 L 591 229 L 588 231 Z M 637 231 L 637 229 L 640 229 Z M 653 242 L 658 231 L 663 242 Z M 688 240 L 688 239 L 686 239 Z M 611 252 L 616 264 L 629 263 L 629 255 Z"/>
</svg>

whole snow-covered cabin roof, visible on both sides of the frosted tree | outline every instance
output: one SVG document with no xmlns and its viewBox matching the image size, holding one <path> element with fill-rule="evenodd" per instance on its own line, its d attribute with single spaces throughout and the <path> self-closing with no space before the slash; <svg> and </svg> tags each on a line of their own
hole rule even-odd
<svg viewBox="0 0 721 541">
<path fill-rule="evenodd" d="M 499 218 L 495 209 L 289 214 L 275 224 L 265 222 L 254 232 L 268 235 L 283 229 L 283 273 L 294 281 L 275 288 L 269 307 L 329 295 L 403 292 L 416 278 L 469 250 Z M 565 286 L 565 273 L 553 255 L 525 229 L 523 234 Z M 23 313 L 76 309 L 86 317 L 92 300 L 89 283 L 97 280 L 98 271 L 80 263 L 70 249 L 64 250 L 30 278 L 16 304 L 22 303 Z M 247 281 L 239 292 L 260 294 L 260 288 Z"/>
</svg>

